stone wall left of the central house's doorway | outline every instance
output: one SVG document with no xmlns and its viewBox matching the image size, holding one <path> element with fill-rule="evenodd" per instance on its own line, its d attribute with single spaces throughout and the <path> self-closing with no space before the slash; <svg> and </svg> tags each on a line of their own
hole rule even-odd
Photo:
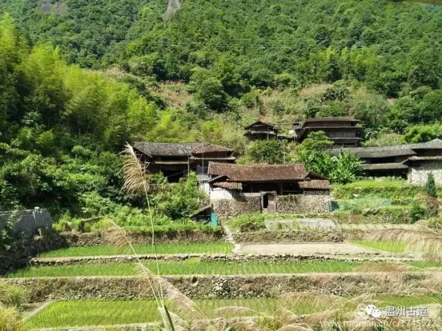
<svg viewBox="0 0 442 331">
<path fill-rule="evenodd" d="M 260 195 L 238 195 L 233 199 L 213 200 L 213 211 L 218 217 L 228 218 L 237 217 L 245 212 L 261 211 Z"/>
</svg>

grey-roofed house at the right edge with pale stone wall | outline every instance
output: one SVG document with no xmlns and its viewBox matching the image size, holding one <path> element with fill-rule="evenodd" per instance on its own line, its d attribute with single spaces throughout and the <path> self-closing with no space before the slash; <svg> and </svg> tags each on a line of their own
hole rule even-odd
<svg viewBox="0 0 442 331">
<path fill-rule="evenodd" d="M 347 152 L 361 158 L 363 170 L 369 177 L 403 177 L 415 185 L 427 181 L 432 172 L 436 183 L 442 184 L 442 140 L 426 143 L 384 147 L 339 148 L 332 154 Z"/>
</svg>

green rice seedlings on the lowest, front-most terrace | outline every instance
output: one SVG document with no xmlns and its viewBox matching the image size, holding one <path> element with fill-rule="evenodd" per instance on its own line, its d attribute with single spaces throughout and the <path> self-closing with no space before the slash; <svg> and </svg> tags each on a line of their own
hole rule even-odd
<svg viewBox="0 0 442 331">
<path fill-rule="evenodd" d="M 314 297 L 316 299 L 312 299 Z M 359 299 L 361 298 L 343 298 L 339 300 L 341 300 L 340 305 L 345 303 L 349 307 L 353 307 Z M 280 314 L 282 309 L 287 314 L 296 313 L 296 316 L 299 317 L 317 312 L 318 309 L 327 308 L 327 305 L 331 305 L 335 301 L 338 301 L 338 299 L 316 293 L 297 299 L 294 299 L 294 297 L 290 299 L 213 299 L 195 300 L 193 303 L 207 317 L 212 319 L 220 315 L 225 317 L 248 317 L 262 314 L 276 316 L 276 314 Z M 410 307 L 432 303 L 434 298 L 383 295 L 366 298 L 361 303 L 374 303 L 375 301 L 382 301 L 378 304 L 379 307 L 387 305 Z M 166 301 L 166 303 L 170 305 L 171 311 L 176 309 L 174 303 L 169 301 Z M 117 325 L 149 323 L 160 320 L 160 312 L 157 310 L 155 301 L 57 301 L 27 321 L 26 328 Z"/>
</svg>

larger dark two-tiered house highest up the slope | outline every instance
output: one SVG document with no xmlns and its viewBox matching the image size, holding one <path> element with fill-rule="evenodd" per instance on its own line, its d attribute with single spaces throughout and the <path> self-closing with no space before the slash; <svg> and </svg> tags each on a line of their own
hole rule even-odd
<svg viewBox="0 0 442 331">
<path fill-rule="evenodd" d="M 334 142 L 334 146 L 357 147 L 362 141 L 359 121 L 351 117 L 322 117 L 295 122 L 296 141 L 302 143 L 310 132 L 323 131 Z"/>
</svg>

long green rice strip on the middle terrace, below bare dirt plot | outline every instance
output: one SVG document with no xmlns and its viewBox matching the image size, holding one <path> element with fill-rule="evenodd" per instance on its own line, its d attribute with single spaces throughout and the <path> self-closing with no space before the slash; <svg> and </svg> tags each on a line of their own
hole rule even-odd
<svg viewBox="0 0 442 331">
<path fill-rule="evenodd" d="M 199 262 L 198 259 L 186 261 L 160 261 L 160 274 L 296 274 L 305 272 L 353 272 L 362 263 L 340 261 L 314 262 Z M 442 263 L 410 263 L 418 268 L 442 266 Z M 155 262 L 145 265 L 157 273 Z M 90 276 L 133 276 L 137 274 L 135 263 L 106 263 L 82 265 L 58 265 L 30 267 L 7 275 L 9 278 L 28 277 L 90 277 Z"/>
</svg>

